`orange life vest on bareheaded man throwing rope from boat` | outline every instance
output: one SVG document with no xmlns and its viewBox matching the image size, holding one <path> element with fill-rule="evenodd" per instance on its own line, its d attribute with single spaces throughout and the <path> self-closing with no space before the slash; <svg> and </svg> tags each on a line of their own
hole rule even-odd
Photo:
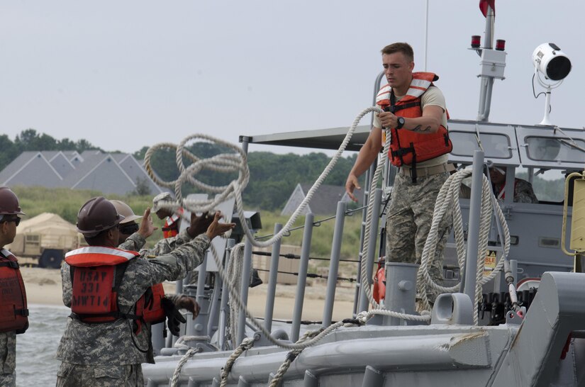
<svg viewBox="0 0 585 387">
<path fill-rule="evenodd" d="M 432 72 L 413 72 L 411 86 L 400 101 L 394 101 L 394 91 L 387 84 L 380 89 L 376 103 L 380 108 L 399 117 L 421 117 L 423 116 L 423 109 L 420 108 L 421 96 L 437 79 L 439 77 Z M 388 157 L 396 167 L 406 164 L 416 169 L 417 162 L 434 159 L 453 149 L 449 132 L 443 125 L 440 125 L 435 133 L 418 133 L 396 128 L 391 128 L 390 133 L 391 144 Z"/>
</svg>

